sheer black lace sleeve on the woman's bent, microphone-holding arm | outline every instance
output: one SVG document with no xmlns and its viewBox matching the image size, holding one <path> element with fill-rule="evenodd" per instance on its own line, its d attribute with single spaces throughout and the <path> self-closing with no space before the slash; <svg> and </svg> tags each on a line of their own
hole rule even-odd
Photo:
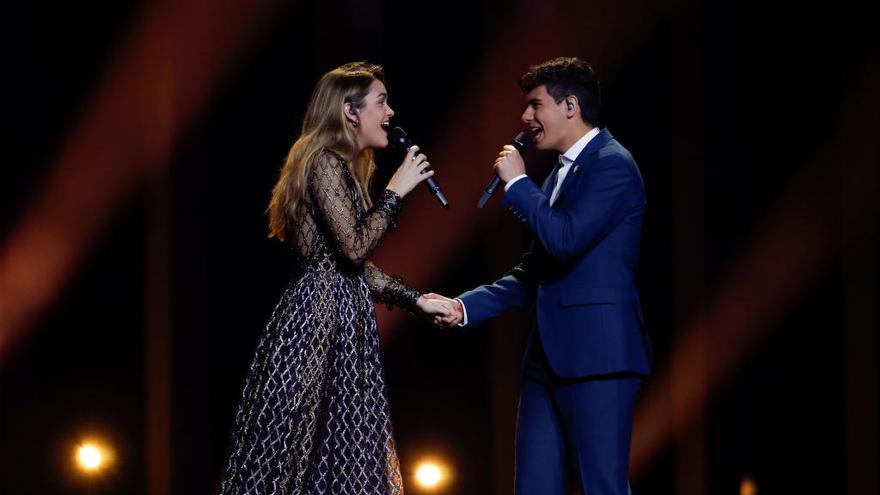
<svg viewBox="0 0 880 495">
<path fill-rule="evenodd" d="M 393 228 L 402 200 L 386 189 L 376 204 L 361 214 L 358 192 L 345 167 L 345 162 L 334 154 L 319 154 L 309 176 L 309 192 L 339 253 L 361 266 Z"/>
</svg>

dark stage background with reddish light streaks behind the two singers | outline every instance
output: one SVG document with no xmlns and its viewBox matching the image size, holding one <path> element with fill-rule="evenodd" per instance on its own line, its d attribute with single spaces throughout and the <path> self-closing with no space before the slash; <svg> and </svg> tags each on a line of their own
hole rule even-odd
<svg viewBox="0 0 880 495">
<path fill-rule="evenodd" d="M 377 264 L 456 295 L 527 232 L 474 203 L 515 84 L 590 61 L 648 195 L 656 348 L 634 493 L 878 493 L 878 35 L 867 7 L 772 2 L 0 3 L 0 493 L 217 484 L 291 256 L 264 209 L 323 72 L 383 64 L 452 203 L 407 198 Z M 554 157 L 535 153 L 543 179 Z M 396 165 L 380 153 L 375 186 Z M 461 335 L 377 308 L 407 489 L 512 492 L 524 316 Z M 115 450 L 84 477 L 74 447 Z"/>
</svg>

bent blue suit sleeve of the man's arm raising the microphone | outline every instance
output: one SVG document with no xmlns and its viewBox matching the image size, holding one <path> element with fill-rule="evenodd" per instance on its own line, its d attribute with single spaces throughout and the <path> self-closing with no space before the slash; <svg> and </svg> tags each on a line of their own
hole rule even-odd
<svg viewBox="0 0 880 495">
<path fill-rule="evenodd" d="M 592 248 L 623 220 L 638 190 L 639 179 L 631 164 L 619 155 L 597 160 L 589 174 L 580 178 L 581 190 L 564 208 L 552 208 L 547 195 L 531 180 L 518 181 L 504 196 L 504 204 L 524 219 L 558 260 L 575 258 Z"/>
</svg>

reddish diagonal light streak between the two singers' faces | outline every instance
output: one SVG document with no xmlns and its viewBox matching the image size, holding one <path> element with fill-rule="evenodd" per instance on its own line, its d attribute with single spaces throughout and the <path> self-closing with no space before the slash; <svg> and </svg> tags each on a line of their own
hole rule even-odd
<svg viewBox="0 0 880 495">
<path fill-rule="evenodd" d="M 529 65 L 565 55 L 590 61 L 600 78 L 612 79 L 626 54 L 674 12 L 643 0 L 523 1 L 510 10 L 492 26 L 498 35 L 487 47 L 473 83 L 461 90 L 453 109 L 441 119 L 445 123 L 438 128 L 448 131 L 432 136 L 444 146 L 424 148 L 437 164 L 437 179 L 450 209 L 438 208 L 434 198 L 421 191 L 412 194 L 400 230 L 388 236 L 375 255 L 379 267 L 402 274 L 408 284 L 426 291 L 439 290 L 431 288 L 432 281 L 454 264 L 449 260 L 481 225 L 500 213 L 498 198 L 485 210 L 475 205 L 491 177 L 495 156 L 520 130 L 524 107 L 516 85 L 519 75 Z M 377 315 L 387 341 L 401 323 L 401 314 L 380 309 Z"/>
</svg>

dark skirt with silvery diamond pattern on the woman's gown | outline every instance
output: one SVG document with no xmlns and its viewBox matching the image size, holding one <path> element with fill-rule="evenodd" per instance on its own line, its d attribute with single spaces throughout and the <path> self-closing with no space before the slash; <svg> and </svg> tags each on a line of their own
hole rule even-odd
<svg viewBox="0 0 880 495">
<path fill-rule="evenodd" d="M 291 281 L 245 381 L 220 493 L 403 493 L 363 272 Z"/>
</svg>

